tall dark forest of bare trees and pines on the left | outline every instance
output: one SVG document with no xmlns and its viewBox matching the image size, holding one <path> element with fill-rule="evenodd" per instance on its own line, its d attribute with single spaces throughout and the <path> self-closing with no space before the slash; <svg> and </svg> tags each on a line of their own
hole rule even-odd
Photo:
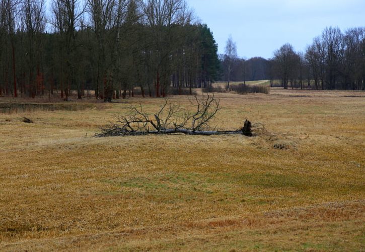
<svg viewBox="0 0 365 252">
<path fill-rule="evenodd" d="M 83 4 L 0 0 L 0 96 L 160 97 L 218 78 L 217 44 L 185 0 Z"/>
</svg>

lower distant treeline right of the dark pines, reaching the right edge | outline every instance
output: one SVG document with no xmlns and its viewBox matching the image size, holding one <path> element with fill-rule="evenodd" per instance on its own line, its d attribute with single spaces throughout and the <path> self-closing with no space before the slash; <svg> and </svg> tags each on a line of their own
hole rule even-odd
<svg viewBox="0 0 365 252">
<path fill-rule="evenodd" d="M 273 58 L 237 57 L 230 38 L 220 55 L 223 81 L 270 80 L 271 87 L 365 90 L 365 27 L 326 28 L 305 52 L 284 44 Z M 279 80 L 279 84 L 277 83 Z"/>
</svg>

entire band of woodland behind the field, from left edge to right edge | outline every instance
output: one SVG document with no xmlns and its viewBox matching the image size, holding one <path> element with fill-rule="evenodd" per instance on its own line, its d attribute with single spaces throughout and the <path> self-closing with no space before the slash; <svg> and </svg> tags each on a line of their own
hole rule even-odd
<svg viewBox="0 0 365 252">
<path fill-rule="evenodd" d="M 247 59 L 232 38 L 218 55 L 185 0 L 1 0 L 0 14 L 0 97 L 68 100 L 74 92 L 111 101 L 255 80 L 365 90 L 364 27 L 327 27 L 305 52 L 286 43 L 272 58 Z"/>
</svg>

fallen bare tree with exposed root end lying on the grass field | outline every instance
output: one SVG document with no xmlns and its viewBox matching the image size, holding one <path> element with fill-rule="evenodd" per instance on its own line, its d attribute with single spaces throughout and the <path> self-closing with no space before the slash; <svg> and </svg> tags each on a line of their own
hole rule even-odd
<svg viewBox="0 0 365 252">
<path fill-rule="evenodd" d="M 252 124 L 245 120 L 241 129 L 236 131 L 211 130 L 209 122 L 220 110 L 220 100 L 214 95 L 207 95 L 199 99 L 195 97 L 190 100 L 195 107 L 194 112 L 182 109 L 179 105 L 174 105 L 169 99 L 161 109 L 154 115 L 144 112 L 142 105 L 131 107 L 127 116 L 120 117 L 111 125 L 101 128 L 101 133 L 96 137 L 112 136 L 142 136 L 158 134 L 185 134 L 185 135 L 245 135 L 252 136 Z"/>
</svg>

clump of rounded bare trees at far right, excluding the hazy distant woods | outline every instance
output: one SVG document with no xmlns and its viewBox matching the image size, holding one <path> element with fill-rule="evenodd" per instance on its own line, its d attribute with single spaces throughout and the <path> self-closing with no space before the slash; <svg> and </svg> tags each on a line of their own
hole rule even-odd
<svg viewBox="0 0 365 252">
<path fill-rule="evenodd" d="M 284 44 L 269 60 L 268 79 L 280 86 L 314 89 L 365 90 L 365 27 L 326 28 L 306 51 Z"/>
</svg>

